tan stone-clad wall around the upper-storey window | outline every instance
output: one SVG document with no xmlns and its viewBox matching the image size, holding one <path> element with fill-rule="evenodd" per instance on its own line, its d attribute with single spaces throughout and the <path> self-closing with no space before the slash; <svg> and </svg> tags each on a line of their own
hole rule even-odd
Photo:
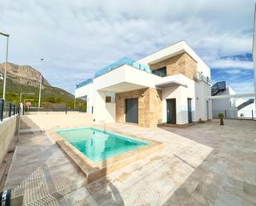
<svg viewBox="0 0 256 206">
<path fill-rule="evenodd" d="M 160 69 L 162 67 L 167 67 L 167 76 L 173 74 L 184 74 L 190 79 L 195 79 L 196 77 L 196 60 L 192 59 L 187 53 L 182 53 L 180 55 L 173 56 L 167 60 L 162 60 L 156 64 L 150 65 L 150 68 Z"/>
</svg>

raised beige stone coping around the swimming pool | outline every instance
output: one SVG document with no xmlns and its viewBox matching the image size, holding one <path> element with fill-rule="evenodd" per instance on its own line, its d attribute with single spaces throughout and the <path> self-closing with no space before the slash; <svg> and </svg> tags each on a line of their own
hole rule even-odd
<svg viewBox="0 0 256 206">
<path fill-rule="evenodd" d="M 95 127 L 98 129 L 97 127 Z M 63 128 L 65 129 L 65 128 Z M 73 127 L 75 129 L 75 127 Z M 111 131 L 108 131 L 111 132 Z M 112 132 L 116 133 L 116 132 Z M 146 139 L 144 137 L 134 137 L 133 135 L 126 135 L 131 136 L 131 138 L 138 140 L 138 141 L 149 141 L 150 144 L 146 146 L 140 146 L 132 151 L 126 151 L 118 156 L 111 157 L 107 160 L 102 160 L 99 162 L 94 162 L 90 160 L 87 156 L 81 153 L 75 146 L 72 146 L 70 142 L 65 141 L 63 137 L 60 136 L 54 130 L 48 132 L 48 134 L 54 138 L 56 144 L 60 146 L 62 151 L 73 160 L 75 165 L 82 171 L 82 173 L 87 178 L 87 182 L 93 182 L 94 180 L 98 180 L 99 178 L 109 175 L 110 173 L 123 168 L 126 165 L 129 165 L 137 160 L 142 160 L 143 158 L 147 157 L 148 155 L 162 150 L 166 145 L 160 141 L 154 141 L 150 139 Z M 122 133 L 117 133 L 122 134 Z"/>
</svg>

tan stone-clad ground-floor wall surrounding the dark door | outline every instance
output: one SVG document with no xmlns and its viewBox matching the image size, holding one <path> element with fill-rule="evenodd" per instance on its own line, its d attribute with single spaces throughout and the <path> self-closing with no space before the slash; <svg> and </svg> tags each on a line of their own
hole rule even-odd
<svg viewBox="0 0 256 206">
<path fill-rule="evenodd" d="M 116 122 L 125 122 L 125 99 L 138 98 L 138 125 L 157 127 L 162 122 L 162 91 L 148 88 L 116 93 Z"/>
</svg>

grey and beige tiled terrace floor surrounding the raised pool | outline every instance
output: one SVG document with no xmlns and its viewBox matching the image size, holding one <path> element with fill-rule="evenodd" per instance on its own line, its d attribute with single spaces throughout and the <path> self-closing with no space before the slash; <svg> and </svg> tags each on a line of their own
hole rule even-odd
<svg viewBox="0 0 256 206">
<path fill-rule="evenodd" d="M 256 205 L 256 122 L 179 129 L 112 124 L 107 130 L 167 148 L 87 184 L 46 132 L 26 131 L 5 185 L 12 199 L 23 196 L 23 205 Z"/>
</svg>

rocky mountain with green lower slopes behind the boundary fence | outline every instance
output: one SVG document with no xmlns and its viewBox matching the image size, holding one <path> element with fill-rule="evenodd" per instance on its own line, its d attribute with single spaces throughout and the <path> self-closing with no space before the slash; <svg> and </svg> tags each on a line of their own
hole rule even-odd
<svg viewBox="0 0 256 206">
<path fill-rule="evenodd" d="M 4 63 L 0 64 L 0 73 L 4 73 Z M 37 106 L 41 73 L 31 66 L 21 66 L 12 63 L 7 64 L 7 102 L 19 103 L 19 93 L 29 92 L 35 95 L 23 95 L 22 102 L 26 99 L 31 101 L 32 106 Z M 44 108 L 74 108 L 74 95 L 64 89 L 51 86 L 42 78 L 41 106 Z M 0 97 L 2 97 L 2 80 L 0 80 Z M 77 99 L 76 107 L 85 109 L 86 102 Z"/>
</svg>

